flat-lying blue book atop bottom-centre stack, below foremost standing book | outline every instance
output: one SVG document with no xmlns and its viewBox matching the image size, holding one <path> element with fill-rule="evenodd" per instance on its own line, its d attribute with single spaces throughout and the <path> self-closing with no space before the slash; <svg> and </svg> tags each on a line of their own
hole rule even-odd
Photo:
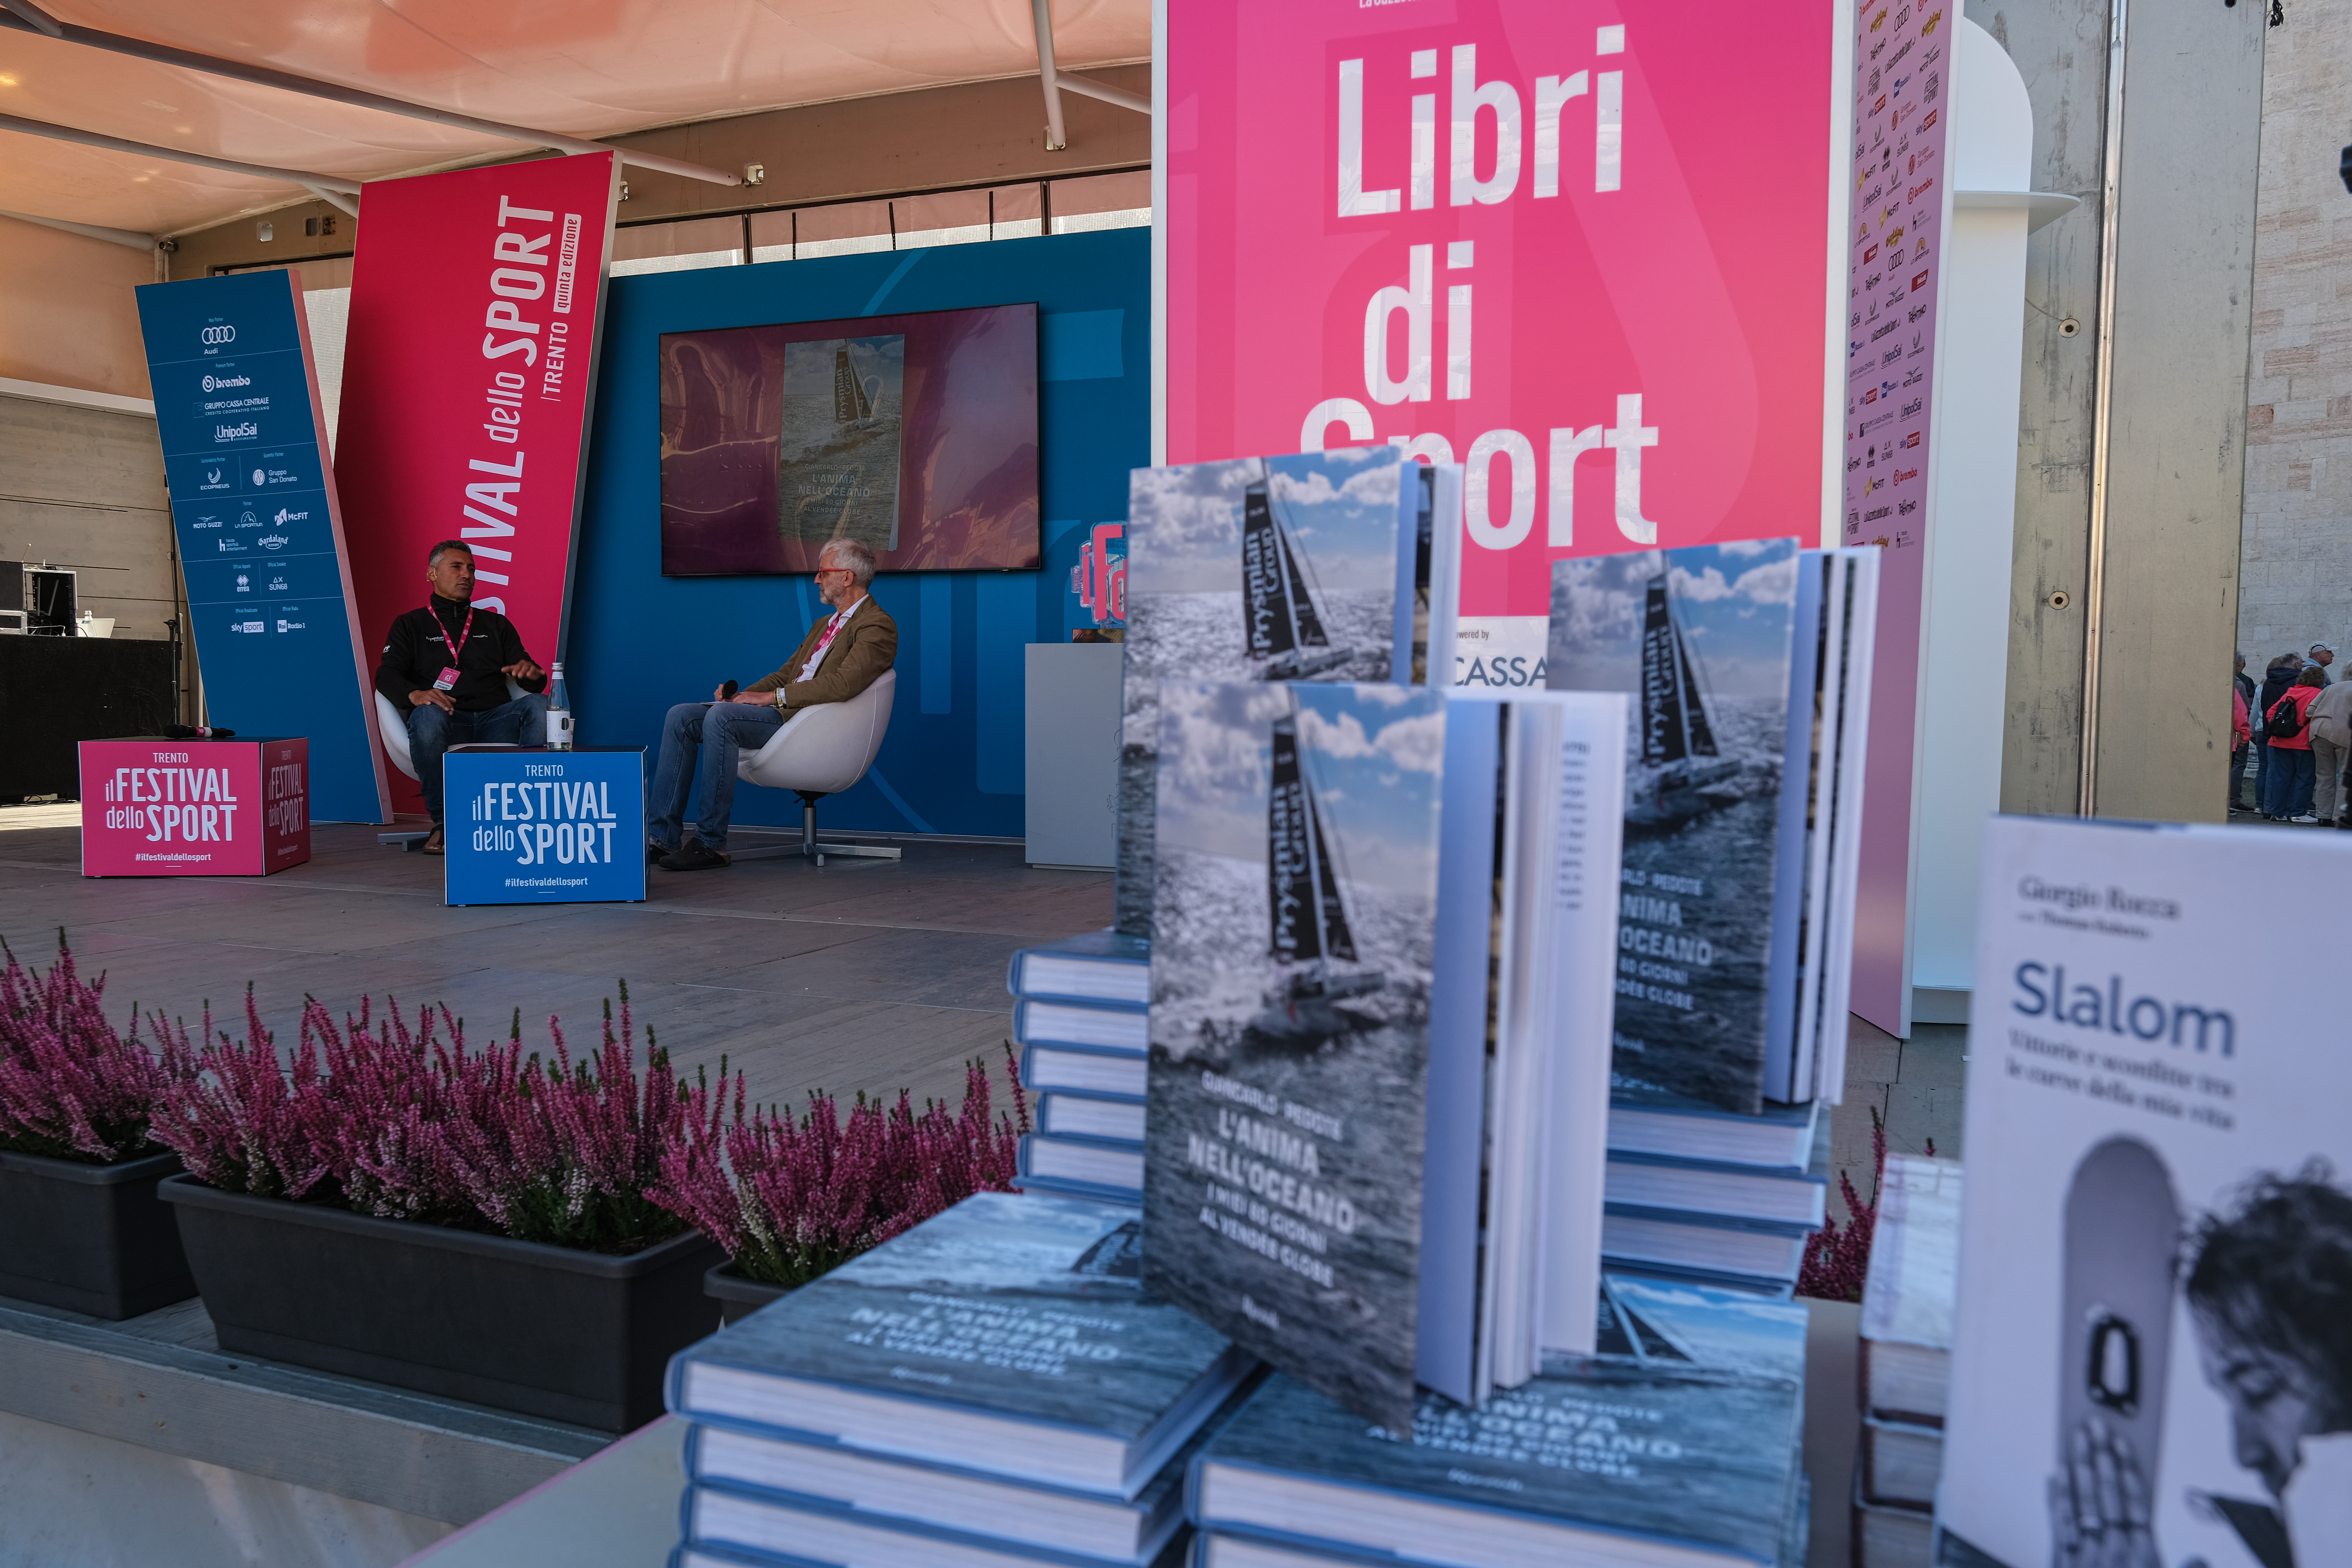
<svg viewBox="0 0 2352 1568">
<path fill-rule="evenodd" d="M 1406 1439 L 1305 1385 L 1268 1378 L 1195 1465 L 1192 1521 L 1404 1563 L 1773 1563 L 1797 1507 L 1802 1385 L 1628 1359 L 1557 1359 L 1541 1378 L 1458 1406 L 1423 1394 Z M 1632 1537 L 1632 1540 L 1625 1540 Z"/>
</svg>

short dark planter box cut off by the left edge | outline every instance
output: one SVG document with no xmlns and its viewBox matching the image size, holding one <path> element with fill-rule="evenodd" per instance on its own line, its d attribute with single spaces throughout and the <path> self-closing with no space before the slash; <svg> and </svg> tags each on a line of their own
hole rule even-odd
<svg viewBox="0 0 2352 1568">
<path fill-rule="evenodd" d="M 118 1166 L 0 1152 L 0 1295 L 127 1319 L 195 1295 L 155 1182 L 179 1154 Z"/>
</svg>

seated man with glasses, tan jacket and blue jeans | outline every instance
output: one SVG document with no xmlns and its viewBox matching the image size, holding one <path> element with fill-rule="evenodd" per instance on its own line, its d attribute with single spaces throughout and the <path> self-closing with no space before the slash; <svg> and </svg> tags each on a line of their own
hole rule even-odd
<svg viewBox="0 0 2352 1568">
<path fill-rule="evenodd" d="M 720 686 L 710 703 L 680 703 L 661 722 L 661 762 L 654 764 L 654 790 L 644 799 L 644 849 L 654 865 L 668 872 L 727 865 L 736 757 L 757 752 L 802 708 L 847 703 L 891 668 L 898 623 L 866 592 L 873 576 L 875 552 L 868 545 L 856 538 L 826 543 L 816 552 L 816 592 L 833 614 L 809 628 L 783 668 L 731 698 Z M 696 752 L 703 792 L 694 835 L 680 842 Z"/>
</svg>

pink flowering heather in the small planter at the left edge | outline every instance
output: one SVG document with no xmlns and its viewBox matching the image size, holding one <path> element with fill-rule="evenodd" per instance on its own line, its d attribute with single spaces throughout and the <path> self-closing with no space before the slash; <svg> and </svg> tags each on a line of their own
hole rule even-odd
<svg viewBox="0 0 2352 1568">
<path fill-rule="evenodd" d="M 151 1117 L 179 1063 L 106 1020 L 106 976 L 82 980 L 66 933 L 49 973 L 0 943 L 0 1150 L 111 1166 L 160 1150 Z"/>
</svg>

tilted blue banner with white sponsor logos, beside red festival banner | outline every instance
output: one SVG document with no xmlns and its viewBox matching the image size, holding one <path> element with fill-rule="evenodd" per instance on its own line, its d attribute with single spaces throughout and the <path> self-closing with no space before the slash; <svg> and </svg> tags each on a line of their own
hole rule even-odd
<svg viewBox="0 0 2352 1568">
<path fill-rule="evenodd" d="M 301 282 L 143 284 L 139 327 L 205 710 L 242 733 L 308 736 L 313 820 L 381 823 L 374 644 L 350 609 Z"/>
</svg>

